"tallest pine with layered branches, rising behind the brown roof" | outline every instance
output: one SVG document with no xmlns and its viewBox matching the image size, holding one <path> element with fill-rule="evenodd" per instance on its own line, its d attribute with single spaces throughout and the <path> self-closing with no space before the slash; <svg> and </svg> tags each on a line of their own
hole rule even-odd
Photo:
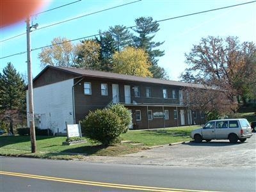
<svg viewBox="0 0 256 192">
<path fill-rule="evenodd" d="M 164 78 L 166 73 L 164 68 L 157 65 L 157 58 L 164 55 L 164 51 L 156 49 L 164 42 L 153 42 L 153 38 L 157 31 L 159 31 L 159 24 L 154 22 L 152 17 L 140 17 L 135 20 L 136 28 L 133 29 L 139 36 L 134 36 L 134 46 L 144 49 L 147 54 L 152 67 L 150 72 L 156 78 Z"/>
</svg>

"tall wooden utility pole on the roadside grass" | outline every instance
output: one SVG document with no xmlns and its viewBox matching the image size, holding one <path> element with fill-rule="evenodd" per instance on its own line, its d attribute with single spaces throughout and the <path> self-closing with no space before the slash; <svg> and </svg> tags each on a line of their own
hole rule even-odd
<svg viewBox="0 0 256 192">
<path fill-rule="evenodd" d="M 29 127 L 31 139 L 31 153 L 36 152 L 36 134 L 35 134 L 35 116 L 34 116 L 34 99 L 33 99 L 33 77 L 31 68 L 31 49 L 30 49 L 30 24 L 29 16 L 26 19 L 27 26 L 27 64 L 28 64 L 28 105 L 29 105 Z"/>
</svg>

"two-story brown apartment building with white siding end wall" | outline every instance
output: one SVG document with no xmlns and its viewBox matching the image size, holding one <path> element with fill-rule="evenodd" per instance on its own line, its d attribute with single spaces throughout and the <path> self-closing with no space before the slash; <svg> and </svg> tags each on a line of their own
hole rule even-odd
<svg viewBox="0 0 256 192">
<path fill-rule="evenodd" d="M 95 109 L 121 103 L 131 111 L 130 129 L 201 124 L 204 116 L 184 105 L 182 89 L 197 84 L 47 66 L 33 79 L 35 125 L 65 132 Z M 28 102 L 27 102 L 28 103 Z"/>
</svg>

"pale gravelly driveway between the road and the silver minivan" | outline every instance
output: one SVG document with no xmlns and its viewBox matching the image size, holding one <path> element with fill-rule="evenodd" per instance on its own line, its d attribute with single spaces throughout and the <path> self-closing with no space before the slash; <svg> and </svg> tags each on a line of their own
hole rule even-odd
<svg viewBox="0 0 256 192">
<path fill-rule="evenodd" d="M 136 154 L 118 157 L 88 156 L 86 161 L 124 164 L 155 164 L 169 166 L 243 166 L 256 167 L 256 134 L 244 143 L 231 144 L 228 140 L 209 143 L 163 145 Z"/>
</svg>

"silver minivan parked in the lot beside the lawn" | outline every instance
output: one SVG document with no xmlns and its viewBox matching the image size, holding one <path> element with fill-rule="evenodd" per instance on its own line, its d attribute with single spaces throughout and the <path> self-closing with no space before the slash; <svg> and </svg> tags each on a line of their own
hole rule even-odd
<svg viewBox="0 0 256 192">
<path fill-rule="evenodd" d="M 237 143 L 244 142 L 252 136 L 252 128 L 245 118 L 211 120 L 200 129 L 191 132 L 191 137 L 196 143 L 205 140 L 229 140 Z"/>
</svg>

